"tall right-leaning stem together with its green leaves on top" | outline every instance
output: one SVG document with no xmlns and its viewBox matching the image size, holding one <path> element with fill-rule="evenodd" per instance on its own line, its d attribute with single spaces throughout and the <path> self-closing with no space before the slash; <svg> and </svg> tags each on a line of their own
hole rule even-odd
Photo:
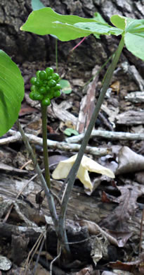
<svg viewBox="0 0 144 275">
<path fill-rule="evenodd" d="M 136 20 L 119 15 L 112 16 L 110 20 L 114 27 L 106 23 L 98 22 L 94 19 L 80 18 L 79 16 L 62 16 L 55 13 L 51 8 L 41 8 L 39 11 L 33 11 L 26 23 L 21 27 L 21 30 L 34 32 L 37 35 L 55 35 L 61 41 L 69 41 L 79 37 L 86 37 L 91 34 L 122 36 L 119 46 L 114 53 L 112 63 L 105 74 L 103 87 L 91 116 L 89 127 L 84 135 L 84 140 L 81 143 L 77 159 L 67 176 L 67 187 L 65 189 L 65 195 L 63 195 L 58 219 L 60 225 L 60 236 L 65 236 L 65 213 L 68 200 L 77 176 L 81 159 L 84 155 L 84 150 L 89 142 L 91 131 L 95 125 L 100 106 L 103 103 L 105 93 L 107 92 L 107 88 L 112 80 L 112 74 L 117 66 L 122 49 L 126 46 L 132 54 L 144 60 L 144 20 Z"/>
</svg>

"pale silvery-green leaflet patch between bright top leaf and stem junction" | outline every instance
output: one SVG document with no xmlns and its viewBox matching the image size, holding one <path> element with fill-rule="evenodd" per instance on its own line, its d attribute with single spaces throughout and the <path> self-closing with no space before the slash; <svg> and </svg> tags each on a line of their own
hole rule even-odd
<svg viewBox="0 0 144 275">
<path fill-rule="evenodd" d="M 93 34 L 97 33 L 99 35 L 121 35 L 123 32 L 117 27 L 111 27 L 100 22 L 76 23 L 74 26 L 84 30 L 91 30 Z"/>
</svg>

